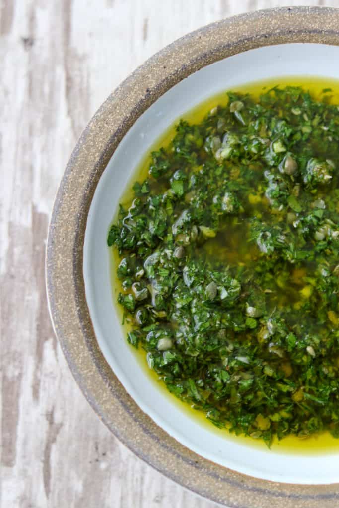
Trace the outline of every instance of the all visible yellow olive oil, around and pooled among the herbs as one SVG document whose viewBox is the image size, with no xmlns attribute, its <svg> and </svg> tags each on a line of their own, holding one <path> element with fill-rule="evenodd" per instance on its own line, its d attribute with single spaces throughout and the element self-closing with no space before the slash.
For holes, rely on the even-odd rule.
<svg viewBox="0 0 339 508">
<path fill-rule="evenodd" d="M 314 78 L 314 77 L 288 77 L 288 78 L 276 78 L 274 80 L 262 81 L 256 83 L 250 83 L 246 86 L 236 87 L 237 92 L 241 93 L 250 93 L 254 97 L 258 97 L 261 93 L 275 87 L 286 87 L 286 86 L 301 86 L 305 90 L 309 90 L 312 96 L 316 99 L 322 99 L 323 97 L 328 98 L 329 103 L 339 104 L 339 82 L 328 79 Z M 182 115 L 181 118 L 187 120 L 191 123 L 199 123 L 205 117 L 205 115 L 213 110 L 213 108 L 218 105 L 226 106 L 228 102 L 228 97 L 225 92 L 218 94 L 218 96 L 212 97 L 205 101 L 203 104 L 198 105 L 191 111 Z M 164 133 L 159 140 L 152 147 L 152 150 L 158 150 L 161 146 L 167 146 L 169 142 L 175 135 L 174 125 L 171 126 L 166 133 Z M 149 150 L 150 152 L 151 150 Z M 147 154 L 142 160 L 141 164 L 138 166 L 135 174 L 131 179 L 131 184 L 128 185 L 126 192 L 121 197 L 121 204 L 124 206 L 129 206 L 132 202 L 132 183 L 135 181 L 142 182 L 148 173 L 148 168 L 151 163 L 151 157 Z M 236 177 L 236 175 L 235 175 Z M 256 196 L 250 197 L 250 205 L 251 200 L 253 202 L 256 201 Z M 250 206 L 249 205 L 249 206 Z M 265 206 L 263 206 L 263 215 L 265 214 Z M 206 246 L 203 246 L 202 249 L 205 249 L 206 257 L 215 255 L 215 252 L 218 252 L 218 259 L 223 260 L 226 264 L 232 263 L 235 260 L 238 264 L 241 265 L 255 265 L 256 256 L 257 256 L 257 247 L 251 246 L 246 248 L 241 248 L 244 246 L 244 239 L 248 232 L 243 229 L 243 224 L 238 221 L 237 217 L 233 219 L 233 223 L 231 226 L 229 225 L 227 232 L 220 232 L 218 235 L 209 240 Z M 240 246 L 240 247 L 239 247 Z M 116 277 L 116 268 L 119 263 L 119 259 L 117 256 L 116 250 L 112 253 L 112 264 L 111 264 L 111 276 L 112 276 L 112 288 L 113 288 L 113 300 L 116 302 L 116 298 L 118 293 L 121 291 L 121 283 L 120 280 Z M 310 271 L 310 276 L 312 274 L 312 270 L 314 267 L 310 264 L 306 270 Z M 285 302 L 289 299 L 295 301 L 296 310 L 298 299 L 300 298 L 300 292 L 304 291 L 312 291 L 305 290 L 304 286 L 300 283 L 302 277 L 304 277 L 305 273 L 298 272 L 298 269 L 294 270 L 292 274 L 292 282 L 286 284 L 283 280 L 276 280 L 274 284 L 276 287 L 280 288 L 279 298 L 276 300 L 269 295 L 269 300 L 273 306 L 275 305 L 284 305 Z M 308 275 L 308 272 L 307 272 Z M 272 290 L 273 291 L 273 290 Z M 273 291 L 274 292 L 274 291 Z M 121 322 L 122 319 L 122 311 L 121 308 L 118 307 L 118 310 L 121 314 Z M 129 318 L 125 317 L 124 319 L 124 335 L 127 335 L 129 329 L 131 329 L 131 323 L 129 322 Z M 157 386 L 157 389 L 161 390 L 164 397 L 168 398 L 169 403 L 176 404 L 181 411 L 192 417 L 196 422 L 200 425 L 206 426 L 209 431 L 215 432 L 218 435 L 227 435 L 230 439 L 238 440 L 239 442 L 245 443 L 246 445 L 256 448 L 265 448 L 265 443 L 261 440 L 254 439 L 252 437 L 244 437 L 243 435 L 236 436 L 234 433 L 228 432 L 226 429 L 220 429 L 215 427 L 205 416 L 202 411 L 194 409 L 190 404 L 182 402 L 177 397 L 172 395 L 167 389 L 163 382 L 158 379 L 158 376 L 154 370 L 149 369 L 146 361 L 145 352 L 139 347 L 139 350 L 136 351 L 138 356 L 140 365 L 145 370 L 146 375 L 152 378 L 153 383 Z M 281 441 L 274 437 L 273 442 L 271 443 L 271 450 L 273 452 L 279 453 L 300 453 L 300 454 L 323 454 L 323 453 L 331 453 L 334 451 L 339 451 L 339 440 L 333 438 L 328 432 L 323 432 L 319 434 L 312 434 L 309 437 L 300 438 L 294 435 L 288 435 Z"/>
</svg>

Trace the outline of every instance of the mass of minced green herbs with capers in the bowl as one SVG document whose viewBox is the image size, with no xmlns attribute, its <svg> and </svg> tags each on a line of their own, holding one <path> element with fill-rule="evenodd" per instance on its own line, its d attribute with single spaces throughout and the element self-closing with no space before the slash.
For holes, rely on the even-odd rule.
<svg viewBox="0 0 339 508">
<path fill-rule="evenodd" d="M 228 96 L 152 152 L 109 231 L 128 341 L 219 427 L 338 437 L 339 108 Z"/>
</svg>

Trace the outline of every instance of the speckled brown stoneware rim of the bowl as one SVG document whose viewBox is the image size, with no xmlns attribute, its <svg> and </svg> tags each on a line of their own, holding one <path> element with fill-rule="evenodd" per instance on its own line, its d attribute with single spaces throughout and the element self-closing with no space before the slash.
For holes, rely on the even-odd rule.
<svg viewBox="0 0 339 508">
<path fill-rule="evenodd" d="M 55 334 L 98 416 L 138 457 L 203 497 L 237 508 L 327 508 L 339 484 L 292 485 L 247 477 L 183 447 L 122 388 L 90 321 L 82 274 L 86 219 L 99 178 L 134 121 L 164 92 L 227 56 L 284 43 L 339 45 L 339 10 L 282 8 L 235 16 L 182 37 L 131 74 L 90 120 L 56 195 L 47 240 L 46 283 Z"/>
</svg>

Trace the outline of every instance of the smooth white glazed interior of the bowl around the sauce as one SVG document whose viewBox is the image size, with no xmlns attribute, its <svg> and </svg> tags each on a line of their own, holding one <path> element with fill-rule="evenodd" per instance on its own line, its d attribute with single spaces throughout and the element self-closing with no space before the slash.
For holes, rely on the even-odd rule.
<svg viewBox="0 0 339 508">
<path fill-rule="evenodd" d="M 212 425 L 201 425 L 164 397 L 121 329 L 112 299 L 107 232 L 119 198 L 142 157 L 180 115 L 214 94 L 256 80 L 306 75 L 339 78 L 338 62 L 339 47 L 285 44 L 246 51 L 192 74 L 134 123 L 107 165 L 88 214 L 83 259 L 86 299 L 99 346 L 122 385 L 141 409 L 184 446 L 215 463 L 266 480 L 339 482 L 339 454 L 286 454 L 249 447 L 242 440 L 215 432 Z"/>
</svg>

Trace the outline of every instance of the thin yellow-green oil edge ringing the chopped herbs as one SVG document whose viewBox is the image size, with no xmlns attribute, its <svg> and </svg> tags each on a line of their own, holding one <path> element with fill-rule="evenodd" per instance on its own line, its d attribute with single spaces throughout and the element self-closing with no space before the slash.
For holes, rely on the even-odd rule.
<svg viewBox="0 0 339 508">
<path fill-rule="evenodd" d="M 327 100 L 333 104 L 339 105 L 339 81 L 331 80 L 328 78 L 319 78 L 319 77 L 282 77 L 275 78 L 265 81 L 256 81 L 253 83 L 249 83 L 247 85 L 236 86 L 232 88 L 232 91 L 242 92 L 242 93 L 251 93 L 253 96 L 258 97 L 262 92 L 268 91 L 270 88 L 275 86 L 301 86 L 304 90 L 310 91 L 312 96 L 316 99 L 321 100 L 326 94 Z M 330 89 L 330 90 L 328 90 Z M 324 91 L 326 90 L 326 91 Z M 214 107 L 218 105 L 225 106 L 228 102 L 227 92 L 225 90 L 222 93 L 219 93 L 198 106 L 194 107 L 190 111 L 181 115 L 180 118 L 187 120 L 191 123 L 199 123 L 202 121 L 204 116 Z M 179 118 L 177 119 L 177 121 Z M 158 150 L 161 146 L 167 146 L 170 141 L 173 139 L 175 135 L 175 121 L 153 144 L 153 146 L 147 151 L 145 156 L 143 157 L 141 163 L 136 168 L 133 173 L 130 182 L 128 183 L 124 193 L 122 193 L 120 198 L 120 203 L 127 208 L 130 206 L 133 200 L 133 191 L 132 185 L 135 181 L 142 182 L 148 173 L 148 168 L 151 162 L 150 152 L 152 150 Z M 116 210 L 117 213 L 117 210 Z M 116 268 L 119 263 L 119 258 L 117 255 L 116 249 L 110 249 L 111 253 L 111 283 L 112 283 L 112 297 L 114 301 L 114 305 L 117 307 L 118 315 L 120 317 L 121 327 L 124 335 L 127 337 L 128 331 L 132 328 L 128 319 L 123 320 L 123 312 L 122 308 L 117 304 L 117 295 L 121 291 L 121 284 L 118 278 L 116 277 Z M 124 324 L 122 322 L 124 321 Z M 130 346 L 132 347 L 132 346 Z M 220 429 L 215 427 L 205 416 L 202 411 L 196 410 L 191 405 L 186 402 L 179 400 L 177 397 L 172 395 L 167 389 L 165 384 L 158 379 L 157 373 L 153 370 L 150 370 L 147 362 L 146 362 L 146 353 L 145 351 L 139 347 L 138 350 L 135 350 L 136 357 L 140 363 L 141 368 L 145 371 L 145 374 L 152 380 L 158 390 L 162 392 L 162 395 L 168 400 L 169 404 L 174 404 L 176 407 L 182 411 L 184 414 L 188 415 L 190 418 L 194 419 L 199 425 L 204 426 L 208 429 L 209 432 L 214 432 L 219 436 L 227 436 L 228 439 L 234 439 L 242 444 L 246 444 L 246 446 L 255 447 L 257 449 L 267 449 L 266 444 L 261 440 L 256 440 L 249 436 L 239 435 L 236 436 L 233 433 L 230 433 L 227 429 Z M 339 452 L 339 439 L 335 439 L 332 437 L 329 432 L 323 432 L 318 435 L 312 435 L 311 437 L 300 438 L 295 435 L 290 435 L 279 441 L 278 439 L 273 440 L 271 444 L 271 451 L 284 453 L 284 454 L 325 454 L 325 453 L 334 453 Z"/>
</svg>

